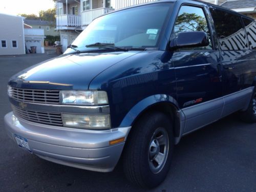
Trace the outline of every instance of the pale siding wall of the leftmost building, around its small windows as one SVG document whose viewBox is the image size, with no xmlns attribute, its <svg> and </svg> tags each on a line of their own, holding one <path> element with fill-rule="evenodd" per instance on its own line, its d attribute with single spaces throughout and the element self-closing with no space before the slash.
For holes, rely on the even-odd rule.
<svg viewBox="0 0 256 192">
<path fill-rule="evenodd" d="M 23 18 L 0 14 L 0 55 L 25 54 Z M 1 40 L 6 40 L 7 48 L 2 48 Z M 12 40 L 17 41 L 17 48 L 12 48 Z"/>
</svg>

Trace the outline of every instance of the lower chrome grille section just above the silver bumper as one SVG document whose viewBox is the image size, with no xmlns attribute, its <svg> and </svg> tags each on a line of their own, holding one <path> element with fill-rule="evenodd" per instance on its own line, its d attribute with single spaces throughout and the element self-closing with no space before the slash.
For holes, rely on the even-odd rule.
<svg viewBox="0 0 256 192">
<path fill-rule="evenodd" d="M 27 121 L 32 121 L 36 123 L 58 125 L 62 126 L 62 119 L 60 113 L 42 112 L 42 111 L 32 111 L 17 108 L 12 105 L 14 114 Z"/>
</svg>

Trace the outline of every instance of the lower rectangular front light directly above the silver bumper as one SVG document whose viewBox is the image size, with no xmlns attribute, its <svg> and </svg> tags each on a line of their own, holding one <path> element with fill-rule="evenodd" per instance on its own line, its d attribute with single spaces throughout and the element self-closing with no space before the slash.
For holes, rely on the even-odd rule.
<svg viewBox="0 0 256 192">
<path fill-rule="evenodd" d="M 109 129 L 110 115 L 61 114 L 64 126 L 82 129 Z"/>
</svg>

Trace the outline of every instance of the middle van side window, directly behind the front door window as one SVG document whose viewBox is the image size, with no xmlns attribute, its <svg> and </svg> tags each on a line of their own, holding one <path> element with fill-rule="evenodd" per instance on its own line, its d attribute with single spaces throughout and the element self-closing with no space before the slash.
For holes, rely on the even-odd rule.
<svg viewBox="0 0 256 192">
<path fill-rule="evenodd" d="M 210 9 L 221 50 L 248 50 L 248 42 L 239 15 Z"/>
</svg>

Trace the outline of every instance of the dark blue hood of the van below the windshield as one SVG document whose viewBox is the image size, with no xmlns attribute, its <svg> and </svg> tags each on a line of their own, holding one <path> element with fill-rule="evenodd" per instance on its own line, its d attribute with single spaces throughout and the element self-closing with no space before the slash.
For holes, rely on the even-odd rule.
<svg viewBox="0 0 256 192">
<path fill-rule="evenodd" d="M 24 89 L 87 90 L 99 73 L 139 52 L 61 55 L 19 72 L 9 84 Z"/>
</svg>

